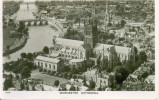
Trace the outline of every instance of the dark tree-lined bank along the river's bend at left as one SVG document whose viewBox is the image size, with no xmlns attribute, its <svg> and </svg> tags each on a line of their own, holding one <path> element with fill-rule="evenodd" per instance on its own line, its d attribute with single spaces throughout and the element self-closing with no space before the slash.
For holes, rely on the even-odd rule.
<svg viewBox="0 0 159 100">
<path fill-rule="evenodd" d="M 3 51 L 3 56 L 7 56 L 11 53 L 14 53 L 25 46 L 27 43 L 27 36 L 22 36 L 20 39 L 16 39 L 14 43 L 9 47 L 9 50 Z"/>
</svg>

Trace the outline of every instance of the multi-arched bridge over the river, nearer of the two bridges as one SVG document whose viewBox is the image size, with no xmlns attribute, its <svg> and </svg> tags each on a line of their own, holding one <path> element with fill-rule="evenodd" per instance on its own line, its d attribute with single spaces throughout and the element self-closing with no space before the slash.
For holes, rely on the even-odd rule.
<svg viewBox="0 0 159 100">
<path fill-rule="evenodd" d="M 40 25 L 48 25 L 48 21 L 46 19 L 25 19 L 25 20 L 17 20 L 18 23 L 23 22 L 26 26 L 40 26 Z"/>
</svg>

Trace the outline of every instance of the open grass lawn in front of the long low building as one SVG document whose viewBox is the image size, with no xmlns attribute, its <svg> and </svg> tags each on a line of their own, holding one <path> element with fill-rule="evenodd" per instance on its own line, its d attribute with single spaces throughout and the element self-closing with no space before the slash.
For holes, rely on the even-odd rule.
<svg viewBox="0 0 159 100">
<path fill-rule="evenodd" d="M 67 83 L 69 81 L 69 80 L 64 79 L 64 78 L 43 74 L 42 72 L 39 72 L 39 70 L 32 71 L 30 78 L 41 79 L 41 80 L 43 80 L 44 84 L 50 85 L 50 86 L 53 86 L 54 81 L 56 81 L 56 80 L 59 80 L 60 84 Z"/>
</svg>

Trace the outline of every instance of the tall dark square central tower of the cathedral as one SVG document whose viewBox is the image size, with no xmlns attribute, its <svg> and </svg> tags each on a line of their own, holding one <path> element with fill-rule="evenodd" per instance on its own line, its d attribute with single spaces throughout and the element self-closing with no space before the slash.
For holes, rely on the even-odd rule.
<svg viewBox="0 0 159 100">
<path fill-rule="evenodd" d="M 89 22 L 84 27 L 84 35 L 84 44 L 89 44 L 93 49 L 97 43 L 97 21 L 95 19 L 89 18 Z"/>
</svg>

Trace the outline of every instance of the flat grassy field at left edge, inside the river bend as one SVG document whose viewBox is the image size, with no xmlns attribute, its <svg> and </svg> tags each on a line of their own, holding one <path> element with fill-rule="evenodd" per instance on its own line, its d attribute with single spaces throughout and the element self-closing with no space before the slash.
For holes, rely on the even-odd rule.
<svg viewBox="0 0 159 100">
<path fill-rule="evenodd" d="M 11 45 L 16 38 L 10 38 L 10 31 L 14 30 L 13 26 L 3 28 L 3 50 L 6 50 L 7 45 Z"/>
</svg>

